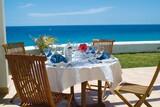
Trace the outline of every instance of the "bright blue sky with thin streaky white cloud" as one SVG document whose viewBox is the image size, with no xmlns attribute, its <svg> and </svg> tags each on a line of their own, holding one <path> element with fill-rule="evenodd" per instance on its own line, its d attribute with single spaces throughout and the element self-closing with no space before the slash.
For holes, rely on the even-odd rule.
<svg viewBox="0 0 160 107">
<path fill-rule="evenodd" d="M 160 0 L 4 0 L 7 26 L 160 24 Z"/>
</svg>

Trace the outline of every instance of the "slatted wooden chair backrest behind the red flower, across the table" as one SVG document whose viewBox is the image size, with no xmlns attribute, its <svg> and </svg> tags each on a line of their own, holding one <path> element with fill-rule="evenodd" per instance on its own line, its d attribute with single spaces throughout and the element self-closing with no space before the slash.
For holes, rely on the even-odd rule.
<svg viewBox="0 0 160 107">
<path fill-rule="evenodd" d="M 114 40 L 103 40 L 95 39 L 93 40 L 93 46 L 96 47 L 99 51 L 107 51 L 109 54 L 112 54 Z"/>
</svg>

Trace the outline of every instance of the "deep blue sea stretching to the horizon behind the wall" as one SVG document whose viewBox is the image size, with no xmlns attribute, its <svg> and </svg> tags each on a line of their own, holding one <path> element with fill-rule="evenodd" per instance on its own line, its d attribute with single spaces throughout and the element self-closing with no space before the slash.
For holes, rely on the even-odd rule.
<svg viewBox="0 0 160 107">
<path fill-rule="evenodd" d="M 160 40 L 160 25 L 73 25 L 7 27 L 7 42 L 22 41 L 26 46 L 35 45 L 31 39 L 39 35 L 56 37 L 57 44 L 67 42 L 90 43 L 92 39 L 115 41 Z"/>
</svg>

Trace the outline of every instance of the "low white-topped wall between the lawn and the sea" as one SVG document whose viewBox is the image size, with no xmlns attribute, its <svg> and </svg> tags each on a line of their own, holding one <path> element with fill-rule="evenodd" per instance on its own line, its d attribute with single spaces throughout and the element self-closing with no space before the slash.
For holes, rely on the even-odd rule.
<svg viewBox="0 0 160 107">
<path fill-rule="evenodd" d="M 65 44 L 56 45 L 57 50 L 62 50 Z M 28 53 L 38 54 L 34 46 L 25 47 Z M 113 53 L 136 53 L 136 52 L 160 52 L 160 41 L 132 41 L 115 42 Z"/>
</svg>

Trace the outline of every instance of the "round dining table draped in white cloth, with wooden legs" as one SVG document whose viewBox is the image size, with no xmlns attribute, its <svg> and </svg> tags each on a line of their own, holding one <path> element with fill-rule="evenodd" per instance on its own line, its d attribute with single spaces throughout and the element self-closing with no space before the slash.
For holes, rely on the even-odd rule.
<svg viewBox="0 0 160 107">
<path fill-rule="evenodd" d="M 51 64 L 46 62 L 46 69 L 51 91 L 63 92 L 65 89 L 81 83 L 81 107 L 86 107 L 87 81 L 98 80 L 98 103 L 102 103 L 102 81 L 110 83 L 110 91 L 122 81 L 119 60 L 111 56 L 104 60 L 88 58 L 76 59 L 69 63 Z"/>
</svg>

